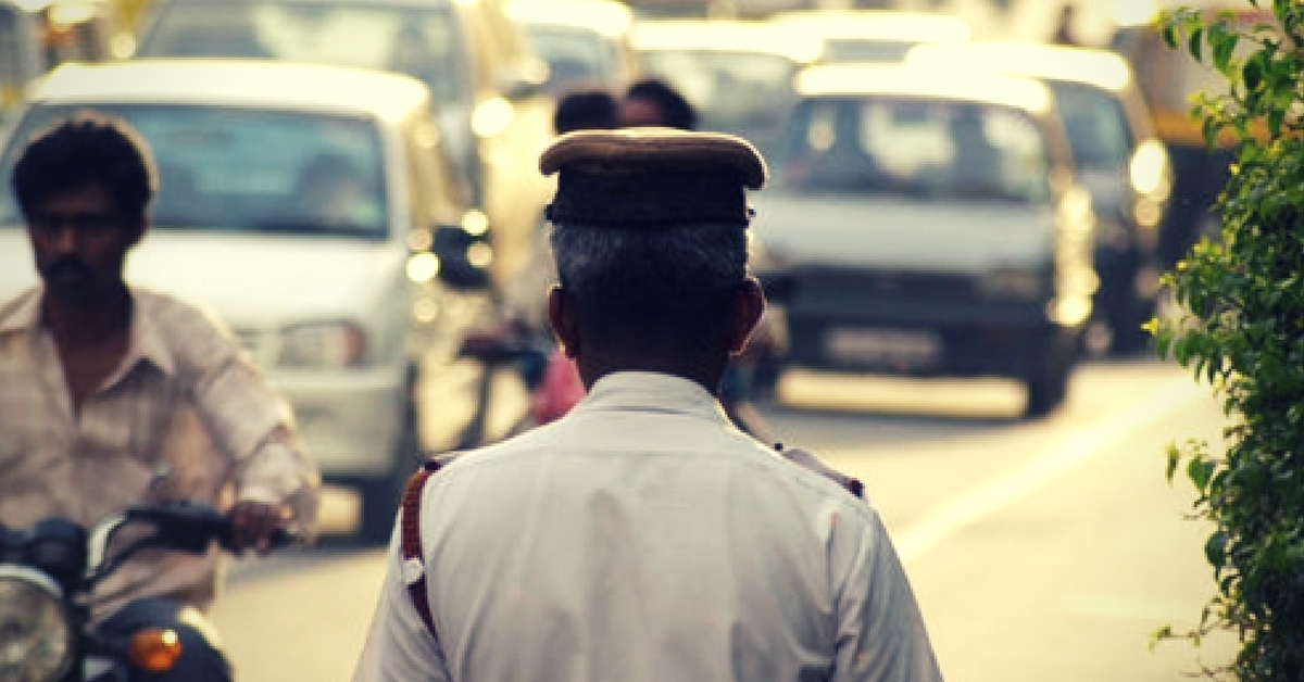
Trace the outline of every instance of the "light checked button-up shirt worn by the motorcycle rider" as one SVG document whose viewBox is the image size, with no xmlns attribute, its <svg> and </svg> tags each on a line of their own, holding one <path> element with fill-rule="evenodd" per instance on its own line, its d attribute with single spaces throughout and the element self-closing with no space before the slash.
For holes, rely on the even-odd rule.
<svg viewBox="0 0 1304 682">
<path fill-rule="evenodd" d="M 74 413 L 40 296 L 38 287 L 0 305 L 0 523 L 59 515 L 90 526 L 143 502 L 253 499 L 287 503 L 312 528 L 317 471 L 288 407 L 220 323 L 132 289 L 126 356 Z M 215 550 L 141 554 L 99 587 L 95 615 L 154 595 L 206 608 L 219 561 Z"/>
</svg>

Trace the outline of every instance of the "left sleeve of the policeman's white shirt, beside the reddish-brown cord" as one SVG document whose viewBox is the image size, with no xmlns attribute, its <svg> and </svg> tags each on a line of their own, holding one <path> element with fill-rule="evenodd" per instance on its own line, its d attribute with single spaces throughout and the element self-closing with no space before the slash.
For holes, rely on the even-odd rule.
<svg viewBox="0 0 1304 682">
<path fill-rule="evenodd" d="M 385 582 L 353 682 L 450 682 L 439 643 L 426 629 L 407 583 L 398 532 L 390 541 Z"/>
</svg>

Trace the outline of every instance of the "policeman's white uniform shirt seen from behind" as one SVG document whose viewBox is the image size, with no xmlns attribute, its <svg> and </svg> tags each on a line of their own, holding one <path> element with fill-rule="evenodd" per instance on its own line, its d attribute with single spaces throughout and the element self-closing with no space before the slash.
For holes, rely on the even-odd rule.
<svg viewBox="0 0 1304 682">
<path fill-rule="evenodd" d="M 941 679 L 874 509 L 675 377 L 439 471 L 421 542 L 438 640 L 395 541 L 355 682 Z"/>
</svg>

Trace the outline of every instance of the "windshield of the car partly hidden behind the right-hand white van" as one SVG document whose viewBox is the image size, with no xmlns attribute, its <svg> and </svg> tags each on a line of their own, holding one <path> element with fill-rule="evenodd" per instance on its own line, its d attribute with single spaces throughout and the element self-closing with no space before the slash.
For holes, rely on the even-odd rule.
<svg viewBox="0 0 1304 682">
<path fill-rule="evenodd" d="M 1125 171 L 1134 141 L 1118 98 L 1084 83 L 1048 85 L 1077 166 L 1091 171 Z"/>
</svg>

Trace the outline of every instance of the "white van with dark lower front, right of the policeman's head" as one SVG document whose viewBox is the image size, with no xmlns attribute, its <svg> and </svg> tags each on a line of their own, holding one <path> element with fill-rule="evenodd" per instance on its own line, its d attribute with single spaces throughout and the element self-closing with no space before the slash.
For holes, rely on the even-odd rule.
<svg viewBox="0 0 1304 682">
<path fill-rule="evenodd" d="M 996 376 L 1065 395 L 1091 314 L 1094 215 L 1050 90 L 902 65 L 814 67 L 754 197 L 786 271 L 786 363 Z"/>
</svg>

